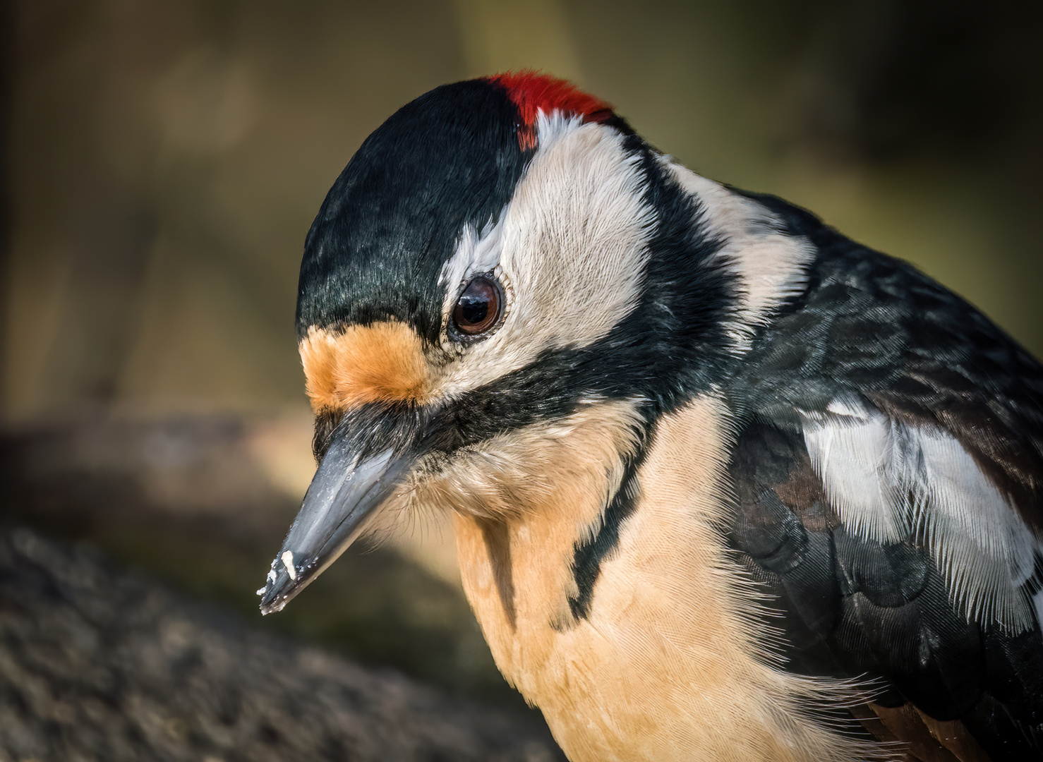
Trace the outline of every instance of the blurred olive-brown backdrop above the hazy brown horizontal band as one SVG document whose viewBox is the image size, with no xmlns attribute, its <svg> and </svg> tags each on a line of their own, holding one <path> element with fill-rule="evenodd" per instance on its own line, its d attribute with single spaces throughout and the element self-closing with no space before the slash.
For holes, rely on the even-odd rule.
<svg viewBox="0 0 1043 762">
<path fill-rule="evenodd" d="M 1043 349 L 1038 2 L 13 14 L 10 419 L 299 408 L 298 255 L 333 179 L 406 101 L 511 67 L 574 79 L 696 171 L 912 260 Z"/>
</svg>

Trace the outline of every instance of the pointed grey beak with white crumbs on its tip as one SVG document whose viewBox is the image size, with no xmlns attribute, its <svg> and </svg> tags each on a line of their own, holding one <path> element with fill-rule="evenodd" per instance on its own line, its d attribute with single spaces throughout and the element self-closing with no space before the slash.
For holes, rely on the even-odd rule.
<svg viewBox="0 0 1043 762">
<path fill-rule="evenodd" d="M 414 462 L 391 449 L 360 459 L 349 439 L 334 436 L 283 547 L 258 590 L 261 613 L 281 611 L 366 530 L 377 509 Z"/>
</svg>

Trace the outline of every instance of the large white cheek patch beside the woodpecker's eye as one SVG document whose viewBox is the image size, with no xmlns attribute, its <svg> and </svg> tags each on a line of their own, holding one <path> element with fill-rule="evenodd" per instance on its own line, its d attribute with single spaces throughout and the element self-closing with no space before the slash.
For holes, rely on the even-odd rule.
<svg viewBox="0 0 1043 762">
<path fill-rule="evenodd" d="M 489 384 L 541 351 L 582 347 L 637 304 L 654 212 L 638 156 L 614 129 L 540 116 L 539 148 L 500 221 L 465 231 L 442 270 L 443 316 L 464 280 L 494 270 L 508 286 L 503 324 L 446 365 L 445 396 Z"/>
</svg>

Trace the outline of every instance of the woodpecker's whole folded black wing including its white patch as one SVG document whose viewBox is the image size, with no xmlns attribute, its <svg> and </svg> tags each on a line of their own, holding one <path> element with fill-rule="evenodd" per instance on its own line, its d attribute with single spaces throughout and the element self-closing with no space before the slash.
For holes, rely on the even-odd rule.
<svg viewBox="0 0 1043 762">
<path fill-rule="evenodd" d="M 1039 759 L 1043 369 L 907 265 L 816 243 L 735 386 L 730 541 L 789 668 L 877 681 L 878 736 Z"/>
</svg>

